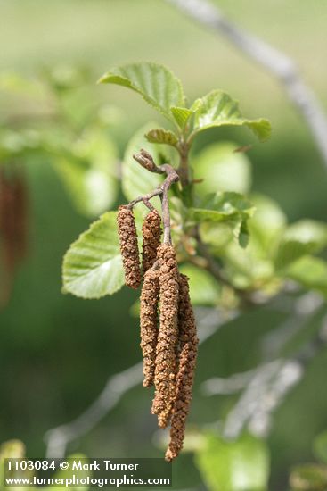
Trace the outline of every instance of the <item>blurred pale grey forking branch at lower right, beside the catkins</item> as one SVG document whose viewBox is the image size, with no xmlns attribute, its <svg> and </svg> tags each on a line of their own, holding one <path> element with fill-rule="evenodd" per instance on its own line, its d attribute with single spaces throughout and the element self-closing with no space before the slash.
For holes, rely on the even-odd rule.
<svg viewBox="0 0 327 491">
<path fill-rule="evenodd" d="M 275 303 L 273 301 L 273 304 Z M 280 299 L 282 301 L 282 298 Z M 264 363 L 258 367 L 233 374 L 227 378 L 208 379 L 202 383 L 204 395 L 230 395 L 242 390 L 241 396 L 229 412 L 224 425 L 226 438 L 236 438 L 242 429 L 266 437 L 272 424 L 274 411 L 303 377 L 307 364 L 327 345 L 327 315 L 321 320 L 320 329 L 315 336 L 302 347 L 298 354 L 289 359 L 282 358 L 282 350 L 290 338 L 303 329 L 324 309 L 321 295 L 309 292 L 299 296 L 290 305 L 286 299 L 286 308 L 291 309 L 290 317 L 282 322 L 279 329 L 268 334 L 262 343 Z M 279 310 L 283 304 L 278 302 Z M 268 348 L 268 345 L 272 345 Z"/>
</svg>

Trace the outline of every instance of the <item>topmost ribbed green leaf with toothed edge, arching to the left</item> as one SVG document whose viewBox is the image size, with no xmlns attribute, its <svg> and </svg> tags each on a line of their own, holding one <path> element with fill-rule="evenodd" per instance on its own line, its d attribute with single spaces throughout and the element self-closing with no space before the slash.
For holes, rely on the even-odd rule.
<svg viewBox="0 0 327 491">
<path fill-rule="evenodd" d="M 179 79 L 166 67 L 152 62 L 131 63 L 115 67 L 99 80 L 102 84 L 117 84 L 135 90 L 143 99 L 175 122 L 171 106 L 184 106 L 184 92 Z"/>
</svg>

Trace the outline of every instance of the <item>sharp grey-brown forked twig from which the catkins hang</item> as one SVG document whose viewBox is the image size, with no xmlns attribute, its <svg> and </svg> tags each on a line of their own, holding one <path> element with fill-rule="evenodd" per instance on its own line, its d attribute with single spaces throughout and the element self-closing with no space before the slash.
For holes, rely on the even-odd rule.
<svg viewBox="0 0 327 491">
<path fill-rule="evenodd" d="M 159 167 L 154 163 L 151 154 L 146 152 L 146 150 L 141 150 L 139 154 L 133 155 L 133 158 L 136 162 L 144 167 L 147 171 L 155 172 L 157 174 L 166 174 L 167 178 L 164 182 L 144 196 L 139 196 L 131 201 L 127 207 L 133 208 L 135 204 L 140 203 L 141 201 L 145 204 L 150 210 L 153 210 L 153 206 L 150 203 L 150 200 L 154 196 L 160 196 L 161 200 L 161 208 L 162 208 L 162 223 L 163 223 L 163 242 L 165 244 L 171 243 L 171 233 L 170 233 L 170 212 L 169 212 L 169 201 L 168 201 L 168 191 L 174 182 L 179 180 L 179 176 L 175 169 L 169 165 L 168 163 L 164 163 Z"/>
</svg>

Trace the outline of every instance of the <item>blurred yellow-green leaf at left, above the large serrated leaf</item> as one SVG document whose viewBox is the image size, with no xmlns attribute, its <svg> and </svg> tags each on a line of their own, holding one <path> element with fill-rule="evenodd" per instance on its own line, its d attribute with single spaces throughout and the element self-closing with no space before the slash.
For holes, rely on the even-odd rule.
<svg viewBox="0 0 327 491">
<path fill-rule="evenodd" d="M 116 201 L 118 179 L 117 149 L 100 130 L 88 131 L 72 146 L 71 154 L 53 159 L 53 167 L 63 181 L 78 212 L 94 217 Z"/>
</svg>

